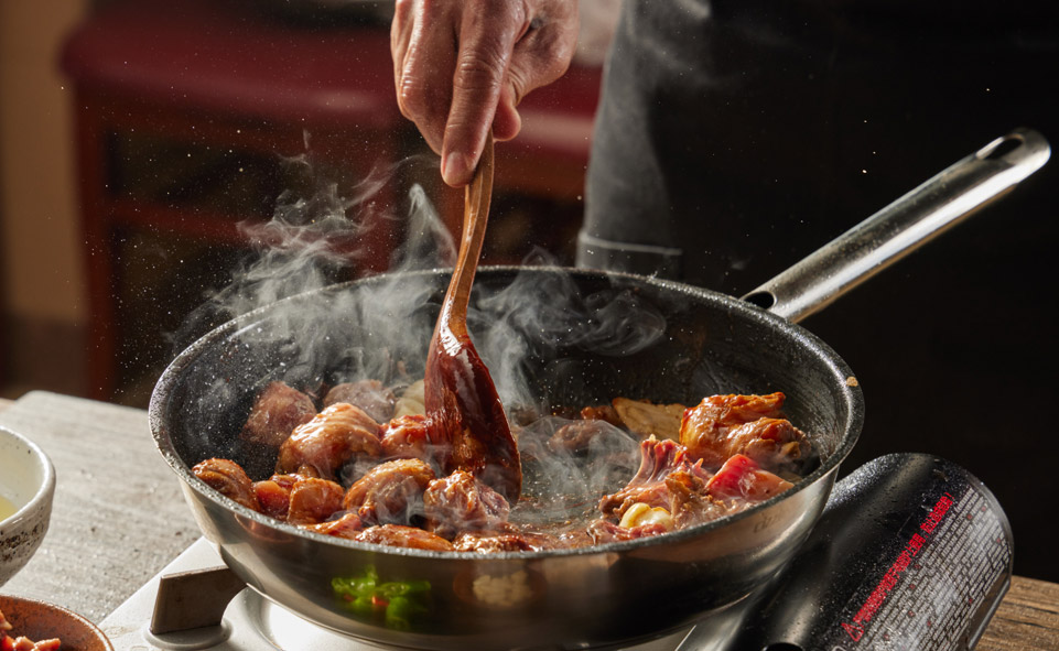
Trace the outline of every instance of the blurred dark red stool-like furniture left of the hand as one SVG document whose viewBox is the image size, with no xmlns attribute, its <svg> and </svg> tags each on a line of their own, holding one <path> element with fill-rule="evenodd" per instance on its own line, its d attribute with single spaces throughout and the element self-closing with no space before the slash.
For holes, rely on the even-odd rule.
<svg viewBox="0 0 1059 651">
<path fill-rule="evenodd" d="M 94 398 L 117 389 L 117 238 L 147 229 L 238 246 L 240 216 L 149 202 L 115 188 L 119 134 L 153 134 L 213 151 L 314 160 L 353 175 L 398 160 L 401 117 L 389 33 L 376 23 L 305 25 L 241 0 L 137 0 L 104 6 L 67 40 L 62 69 L 76 95 L 77 164 L 91 310 Z M 390 203 L 392 188 L 376 200 Z M 392 224 L 375 219 L 365 271 L 381 270 Z"/>
</svg>

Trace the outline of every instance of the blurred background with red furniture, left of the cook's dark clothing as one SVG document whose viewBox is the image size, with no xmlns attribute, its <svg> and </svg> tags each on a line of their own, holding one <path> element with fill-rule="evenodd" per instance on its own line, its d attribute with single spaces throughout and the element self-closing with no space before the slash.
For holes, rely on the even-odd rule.
<svg viewBox="0 0 1059 651">
<path fill-rule="evenodd" d="M 534 246 L 573 260 L 617 10 L 585 4 L 574 69 L 527 102 L 522 137 L 498 154 L 488 261 L 518 262 Z M 292 188 L 310 196 L 333 182 L 349 196 L 369 176 L 381 183 L 365 236 L 376 259 L 346 275 L 385 268 L 413 183 L 458 228 L 463 197 L 437 187 L 436 159 L 400 163 L 429 150 L 397 109 L 391 11 L 356 0 L 2 3 L 2 395 L 144 406 L 174 347 L 210 325 L 188 327 L 188 314 L 230 281 L 247 228 Z"/>
</svg>

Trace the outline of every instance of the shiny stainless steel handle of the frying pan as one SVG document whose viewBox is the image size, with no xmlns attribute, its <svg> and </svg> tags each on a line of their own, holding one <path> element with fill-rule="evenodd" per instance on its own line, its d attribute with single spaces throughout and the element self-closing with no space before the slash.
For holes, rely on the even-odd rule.
<svg viewBox="0 0 1059 651">
<path fill-rule="evenodd" d="M 955 226 L 1039 170 L 1045 138 L 1016 129 L 842 234 L 744 301 L 798 322 Z"/>
</svg>

